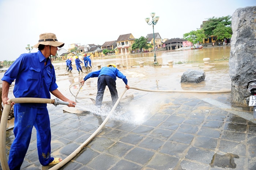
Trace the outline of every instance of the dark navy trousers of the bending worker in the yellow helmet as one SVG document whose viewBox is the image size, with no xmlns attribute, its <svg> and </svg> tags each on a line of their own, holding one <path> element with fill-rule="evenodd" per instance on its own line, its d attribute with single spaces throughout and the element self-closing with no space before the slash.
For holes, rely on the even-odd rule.
<svg viewBox="0 0 256 170">
<path fill-rule="evenodd" d="M 97 83 L 98 92 L 96 96 L 96 106 L 98 107 L 101 107 L 102 105 L 103 94 L 106 86 L 108 86 L 109 88 L 113 105 L 116 103 L 118 99 L 116 81 L 114 80 L 114 78 L 107 75 L 101 75 L 98 77 L 98 83 Z"/>
</svg>

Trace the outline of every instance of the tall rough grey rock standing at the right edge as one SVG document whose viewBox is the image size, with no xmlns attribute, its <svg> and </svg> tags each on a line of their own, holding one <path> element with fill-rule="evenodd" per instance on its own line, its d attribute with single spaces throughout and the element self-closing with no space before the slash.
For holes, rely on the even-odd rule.
<svg viewBox="0 0 256 170">
<path fill-rule="evenodd" d="M 256 6 L 236 9 L 231 27 L 230 101 L 245 105 L 249 96 L 247 82 L 256 79 Z"/>
</svg>

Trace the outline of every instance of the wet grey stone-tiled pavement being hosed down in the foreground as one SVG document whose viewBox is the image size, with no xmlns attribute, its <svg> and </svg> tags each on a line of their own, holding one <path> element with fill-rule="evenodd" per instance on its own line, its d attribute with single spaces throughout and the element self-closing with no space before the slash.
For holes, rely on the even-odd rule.
<svg viewBox="0 0 256 170">
<path fill-rule="evenodd" d="M 138 70 L 133 72 L 138 73 Z M 124 73 L 128 74 L 128 70 Z M 130 80 L 130 86 L 140 88 L 142 82 L 133 83 L 132 77 Z M 174 81 L 178 80 L 174 78 Z M 95 89 L 93 84 L 96 82 L 97 79 L 92 80 L 90 88 Z M 161 86 L 161 81 L 158 85 Z M 119 87 L 118 93 L 121 93 L 124 85 Z M 147 84 L 146 88 L 152 87 Z M 161 88 L 166 90 L 167 87 Z M 134 89 L 127 90 L 127 93 L 133 94 L 134 99 L 122 104 L 99 134 L 60 169 L 256 169 L 255 121 L 239 115 L 252 113 L 232 107 L 227 101 L 229 93 L 152 94 Z M 53 157 L 64 159 L 76 150 L 99 127 L 111 109 L 97 111 L 89 100 L 77 104 L 89 112 L 70 113 L 63 111 L 61 105 L 48 105 Z M 8 155 L 14 139 L 12 131 L 7 131 L 7 138 Z M 50 166 L 42 167 L 38 161 L 35 129 L 22 169 L 50 169 Z"/>
</svg>

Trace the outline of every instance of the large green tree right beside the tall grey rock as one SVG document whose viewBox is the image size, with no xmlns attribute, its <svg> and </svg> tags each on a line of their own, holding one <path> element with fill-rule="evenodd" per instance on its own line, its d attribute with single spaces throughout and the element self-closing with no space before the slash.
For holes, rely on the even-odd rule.
<svg viewBox="0 0 256 170">
<path fill-rule="evenodd" d="M 218 40 L 223 38 L 231 38 L 231 16 L 223 16 L 219 18 L 207 18 L 207 21 L 202 24 L 204 34 L 208 37 L 214 35 Z"/>
</svg>

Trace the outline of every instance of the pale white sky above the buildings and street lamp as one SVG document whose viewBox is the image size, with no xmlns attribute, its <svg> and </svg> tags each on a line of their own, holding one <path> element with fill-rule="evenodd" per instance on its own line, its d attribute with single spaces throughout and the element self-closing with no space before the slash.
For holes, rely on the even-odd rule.
<svg viewBox="0 0 256 170">
<path fill-rule="evenodd" d="M 45 32 L 56 34 L 66 50 L 72 43 L 102 45 L 123 34 L 152 34 L 144 19 L 155 12 L 160 17 L 155 33 L 182 38 L 207 18 L 248 6 L 256 6 L 256 0 L 0 0 L 0 61 L 28 53 L 27 44 L 34 46 Z"/>
</svg>

